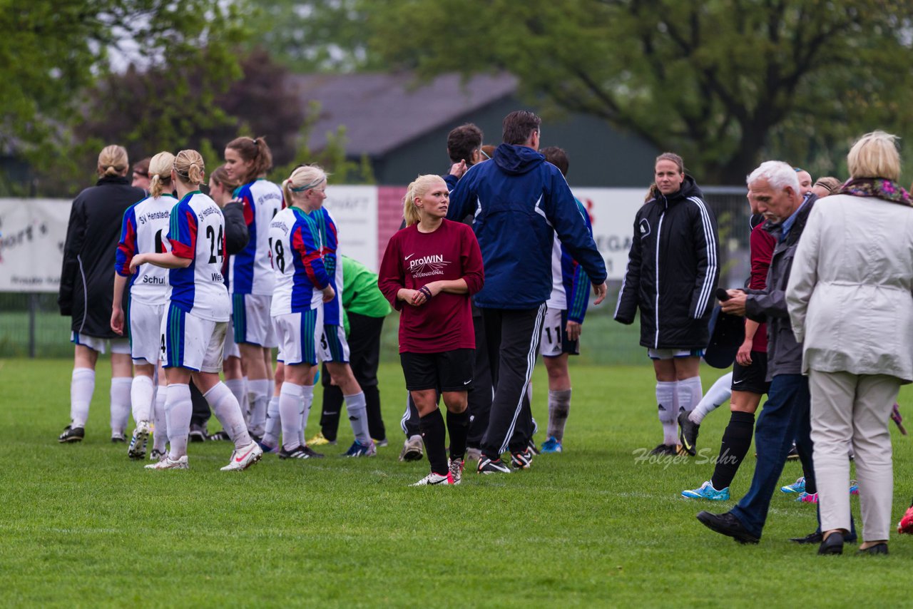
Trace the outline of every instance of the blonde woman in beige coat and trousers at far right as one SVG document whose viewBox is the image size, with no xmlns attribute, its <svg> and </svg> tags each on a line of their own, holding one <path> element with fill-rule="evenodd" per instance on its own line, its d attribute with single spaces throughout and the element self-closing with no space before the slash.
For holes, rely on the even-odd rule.
<svg viewBox="0 0 913 609">
<path fill-rule="evenodd" d="M 852 178 L 814 206 L 786 289 L 812 393 L 823 554 L 841 553 L 850 527 L 850 441 L 864 525 L 860 551 L 887 554 L 887 422 L 900 385 L 913 382 L 913 203 L 897 185 L 895 139 L 875 131 L 855 143 L 847 157 Z"/>
</svg>

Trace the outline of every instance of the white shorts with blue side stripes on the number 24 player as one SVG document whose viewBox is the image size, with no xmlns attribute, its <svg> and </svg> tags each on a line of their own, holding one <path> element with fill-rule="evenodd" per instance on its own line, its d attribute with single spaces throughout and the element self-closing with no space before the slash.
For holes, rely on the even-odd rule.
<svg viewBox="0 0 913 609">
<path fill-rule="evenodd" d="M 227 330 L 227 321 L 204 320 L 168 305 L 162 319 L 163 366 L 202 373 L 222 372 Z"/>
</svg>

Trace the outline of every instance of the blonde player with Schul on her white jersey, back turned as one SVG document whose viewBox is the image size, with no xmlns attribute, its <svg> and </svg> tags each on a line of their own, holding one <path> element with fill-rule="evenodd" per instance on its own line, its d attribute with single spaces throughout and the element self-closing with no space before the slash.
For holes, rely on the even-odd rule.
<svg viewBox="0 0 913 609">
<path fill-rule="evenodd" d="M 123 335 L 124 326 L 130 336 L 130 352 L 133 358 L 133 383 L 130 401 L 133 407 L 133 421 L 136 428 L 127 455 L 131 459 L 146 456 L 146 442 L 156 423 L 155 442 L 152 458 L 164 455 L 165 436 L 165 379 L 158 377 L 156 391 L 153 377 L 159 365 L 161 352 L 162 318 L 168 304 L 168 269 L 144 264 L 136 274 L 130 269 L 134 256 L 146 252 L 161 254 L 164 236 L 168 234 L 168 219 L 177 201 L 172 194 L 171 172 L 174 155 L 159 152 L 148 164 L 151 176 L 149 196 L 131 206 L 123 215 L 121 240 L 117 247 L 114 264 L 114 301 L 111 306 L 111 330 Z M 122 294 L 130 281 L 130 300 L 124 316 Z M 154 409 L 153 409 L 154 402 Z M 154 413 L 154 414 L 153 414 Z"/>
</svg>

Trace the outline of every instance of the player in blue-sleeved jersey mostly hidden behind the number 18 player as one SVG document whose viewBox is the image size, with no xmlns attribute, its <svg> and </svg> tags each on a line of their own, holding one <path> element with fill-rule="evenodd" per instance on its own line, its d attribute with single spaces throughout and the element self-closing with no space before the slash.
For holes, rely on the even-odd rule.
<svg viewBox="0 0 913 609">
<path fill-rule="evenodd" d="M 329 210 L 323 207 L 323 200 L 327 198 L 326 191 L 327 181 L 324 177 L 322 182 L 308 189 L 311 194 L 304 202 L 305 209 L 317 225 L 323 266 L 330 276 L 330 285 L 335 292 L 333 299 L 323 303 L 320 361 L 326 362 L 327 372 L 342 390 L 349 423 L 355 435 L 355 441 L 346 451 L 346 457 L 373 457 L 377 454 L 377 448 L 368 431 L 364 392 L 355 380 L 352 367 L 349 365 L 349 343 L 346 341 L 345 329 L 342 326 L 342 264 L 337 264 L 336 259 L 340 255 L 336 223 L 333 222 Z"/>
</svg>

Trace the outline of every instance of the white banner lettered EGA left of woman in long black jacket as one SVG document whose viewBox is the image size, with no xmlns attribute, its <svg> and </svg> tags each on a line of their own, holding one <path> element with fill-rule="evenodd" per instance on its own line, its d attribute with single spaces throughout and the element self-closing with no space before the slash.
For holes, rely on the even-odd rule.
<svg viewBox="0 0 913 609">
<path fill-rule="evenodd" d="M 634 217 L 644 205 L 646 188 L 573 188 L 593 220 L 593 239 L 605 259 L 609 280 L 624 278 L 634 236 Z"/>
</svg>

